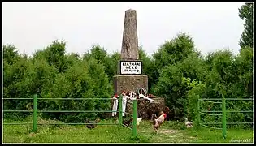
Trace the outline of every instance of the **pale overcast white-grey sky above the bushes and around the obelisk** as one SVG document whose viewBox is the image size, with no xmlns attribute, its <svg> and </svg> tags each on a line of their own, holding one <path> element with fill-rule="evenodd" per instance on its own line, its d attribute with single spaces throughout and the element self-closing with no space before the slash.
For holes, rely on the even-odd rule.
<svg viewBox="0 0 256 146">
<path fill-rule="evenodd" d="M 202 54 L 229 48 L 239 52 L 242 2 L 2 2 L 2 42 L 32 55 L 52 41 L 67 42 L 67 53 L 93 45 L 121 51 L 124 14 L 137 11 L 139 45 L 154 54 L 179 32 L 193 37 Z"/>
</svg>

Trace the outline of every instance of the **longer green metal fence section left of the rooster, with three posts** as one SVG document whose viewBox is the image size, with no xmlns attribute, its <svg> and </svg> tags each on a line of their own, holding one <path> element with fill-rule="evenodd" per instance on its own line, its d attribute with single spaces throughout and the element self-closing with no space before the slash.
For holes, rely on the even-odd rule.
<svg viewBox="0 0 256 146">
<path fill-rule="evenodd" d="M 119 127 L 126 127 L 123 122 L 123 107 L 122 101 L 123 96 L 119 96 L 119 111 L 115 110 L 37 110 L 37 100 L 114 100 L 113 98 L 37 98 L 37 95 L 33 95 L 33 98 L 3 98 L 3 100 L 33 100 L 33 110 L 3 110 L 3 112 L 33 112 L 33 122 L 24 122 L 24 123 L 3 123 L 4 125 L 24 125 L 24 124 L 33 124 L 33 131 L 37 132 L 37 125 L 89 125 L 91 123 L 37 123 L 37 113 L 95 113 L 95 112 L 118 112 L 119 113 L 119 122 L 115 123 L 95 123 L 96 125 L 119 125 Z M 128 127 L 132 130 L 132 136 L 137 136 L 137 100 L 127 101 L 128 103 L 132 103 L 133 105 L 133 122 L 132 128 Z M 124 112 L 126 113 L 126 112 Z M 126 113 L 129 114 L 129 113 Z"/>
</svg>

